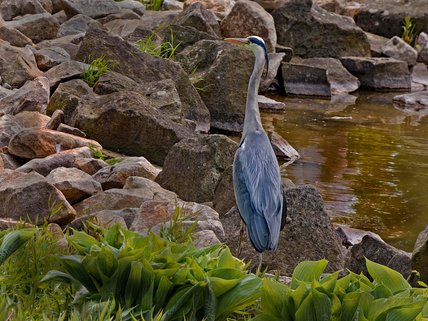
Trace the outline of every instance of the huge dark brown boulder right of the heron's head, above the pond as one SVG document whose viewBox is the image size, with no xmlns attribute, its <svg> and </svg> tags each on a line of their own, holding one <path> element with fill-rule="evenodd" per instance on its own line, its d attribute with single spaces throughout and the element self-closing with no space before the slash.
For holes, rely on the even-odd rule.
<svg viewBox="0 0 428 321">
<path fill-rule="evenodd" d="M 276 42 L 302 58 L 370 56 L 367 36 L 347 18 L 311 0 L 290 0 L 272 12 Z"/>
</svg>

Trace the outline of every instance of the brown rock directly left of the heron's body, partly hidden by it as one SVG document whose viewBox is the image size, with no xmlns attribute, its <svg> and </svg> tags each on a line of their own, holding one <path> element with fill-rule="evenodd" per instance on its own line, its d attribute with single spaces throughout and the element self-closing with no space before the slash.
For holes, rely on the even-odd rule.
<svg viewBox="0 0 428 321">
<path fill-rule="evenodd" d="M 214 188 L 213 208 L 220 218 L 236 205 L 235 191 L 233 190 L 233 166 L 227 167 L 218 178 Z"/>
</svg>

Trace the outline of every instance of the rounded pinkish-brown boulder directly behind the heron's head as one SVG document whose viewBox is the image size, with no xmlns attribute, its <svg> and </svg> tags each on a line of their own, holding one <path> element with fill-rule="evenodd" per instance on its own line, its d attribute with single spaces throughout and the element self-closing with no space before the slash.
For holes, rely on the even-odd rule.
<svg viewBox="0 0 428 321">
<path fill-rule="evenodd" d="M 265 40 L 268 52 L 275 52 L 276 30 L 272 16 L 254 1 L 238 0 L 220 23 L 226 38 L 259 36 Z"/>
</svg>

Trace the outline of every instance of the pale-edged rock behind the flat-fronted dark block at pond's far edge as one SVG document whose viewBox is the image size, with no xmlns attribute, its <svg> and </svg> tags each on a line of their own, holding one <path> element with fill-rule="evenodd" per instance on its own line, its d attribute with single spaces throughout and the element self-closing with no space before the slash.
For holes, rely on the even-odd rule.
<svg viewBox="0 0 428 321">
<path fill-rule="evenodd" d="M 347 94 L 358 89 L 358 78 L 347 71 L 338 59 L 334 58 L 292 58 L 291 63 L 324 68 L 327 72 L 327 81 L 330 83 L 331 94 Z M 284 77 L 285 78 L 285 77 Z"/>
</svg>

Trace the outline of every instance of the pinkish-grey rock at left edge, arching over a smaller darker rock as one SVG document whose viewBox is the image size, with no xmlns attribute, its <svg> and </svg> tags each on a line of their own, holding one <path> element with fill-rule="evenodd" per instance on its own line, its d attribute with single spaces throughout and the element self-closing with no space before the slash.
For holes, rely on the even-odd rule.
<svg viewBox="0 0 428 321">
<path fill-rule="evenodd" d="M 0 110 L 12 114 L 19 106 L 21 100 L 39 101 L 40 112 L 44 113 L 49 102 L 49 83 L 46 77 L 37 77 L 27 82 L 12 95 L 0 99 Z M 16 113 L 16 112 L 15 112 Z"/>
</svg>

